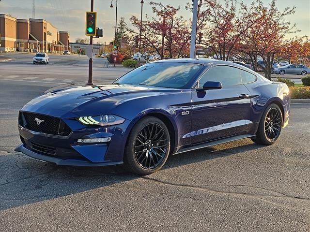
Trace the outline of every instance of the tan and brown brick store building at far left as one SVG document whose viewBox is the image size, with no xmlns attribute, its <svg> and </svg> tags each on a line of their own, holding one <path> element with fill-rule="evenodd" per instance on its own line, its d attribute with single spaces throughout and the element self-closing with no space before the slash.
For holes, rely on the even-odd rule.
<svg viewBox="0 0 310 232">
<path fill-rule="evenodd" d="M 62 53 L 70 50 L 68 31 L 58 31 L 44 19 L 16 19 L 0 14 L 0 51 Z"/>
</svg>

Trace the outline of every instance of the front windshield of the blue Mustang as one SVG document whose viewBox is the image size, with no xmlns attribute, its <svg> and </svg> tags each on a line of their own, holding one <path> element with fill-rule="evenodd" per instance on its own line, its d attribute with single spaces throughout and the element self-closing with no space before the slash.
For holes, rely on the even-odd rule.
<svg viewBox="0 0 310 232">
<path fill-rule="evenodd" d="M 126 73 L 113 84 L 184 88 L 202 67 L 181 62 L 150 63 Z"/>
</svg>

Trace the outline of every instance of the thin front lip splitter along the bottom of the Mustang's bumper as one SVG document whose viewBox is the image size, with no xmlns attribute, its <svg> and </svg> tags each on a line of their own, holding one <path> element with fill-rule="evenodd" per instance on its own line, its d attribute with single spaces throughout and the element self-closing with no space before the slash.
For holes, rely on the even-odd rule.
<svg viewBox="0 0 310 232">
<path fill-rule="evenodd" d="M 19 151 L 21 153 L 24 153 L 25 155 L 36 159 L 36 160 L 41 160 L 41 161 L 47 161 L 51 163 L 55 163 L 57 165 L 65 165 L 65 166 L 84 166 L 84 167 L 99 167 L 99 166 L 109 166 L 109 165 L 119 165 L 123 164 L 123 161 L 120 162 L 111 162 L 111 161 L 106 161 L 106 162 L 89 162 L 89 161 L 84 161 L 84 160 L 73 160 L 73 159 L 66 159 L 62 160 L 56 157 L 51 157 L 47 155 L 42 155 L 36 152 L 31 151 L 30 149 L 27 149 L 24 144 L 20 144 L 15 148 L 15 151 Z"/>
</svg>

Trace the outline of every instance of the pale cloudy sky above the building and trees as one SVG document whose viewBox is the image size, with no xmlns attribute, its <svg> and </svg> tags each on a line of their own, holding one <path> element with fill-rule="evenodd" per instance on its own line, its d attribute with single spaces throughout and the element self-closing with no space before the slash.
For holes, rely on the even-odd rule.
<svg viewBox="0 0 310 232">
<path fill-rule="evenodd" d="M 152 7 L 149 5 L 151 0 L 144 0 L 143 16 L 153 15 Z M 163 4 L 171 4 L 175 7 L 180 6 L 179 15 L 190 19 L 192 14 L 186 11 L 185 6 L 191 0 L 153 0 Z M 266 4 L 270 0 L 264 0 Z M 85 12 L 90 11 L 90 0 L 34 0 L 35 18 L 45 19 L 58 30 L 70 32 L 70 42 L 75 42 L 76 38 L 87 38 L 85 35 Z M 250 3 L 252 0 L 244 0 Z M 109 43 L 113 40 L 115 26 L 115 3 L 114 8 L 110 8 L 111 0 L 94 0 L 94 11 L 97 12 L 97 27 L 104 29 L 104 37 L 94 39 L 94 43 Z M 125 18 L 125 22 L 130 27 L 130 17 L 136 15 L 140 18 L 140 0 L 118 0 L 117 19 Z M 277 7 L 283 11 L 286 7 L 296 7 L 294 15 L 287 17 L 288 21 L 297 25 L 301 30 L 297 36 L 308 35 L 310 37 L 310 0 L 278 0 Z M 32 0 L 1 0 L 0 14 L 10 14 L 15 18 L 32 18 Z"/>
</svg>

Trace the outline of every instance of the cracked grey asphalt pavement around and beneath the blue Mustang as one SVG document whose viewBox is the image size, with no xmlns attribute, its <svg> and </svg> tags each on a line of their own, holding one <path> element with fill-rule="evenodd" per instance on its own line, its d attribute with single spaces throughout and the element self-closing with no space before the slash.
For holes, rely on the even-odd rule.
<svg viewBox="0 0 310 232">
<path fill-rule="evenodd" d="M 122 166 L 61 167 L 14 151 L 17 112 L 88 70 L 34 67 L 0 63 L 0 231 L 310 230 L 310 104 L 292 104 L 272 146 L 244 139 L 187 152 L 145 177 Z M 109 83 L 128 71 L 95 67 L 94 78 Z"/>
</svg>

